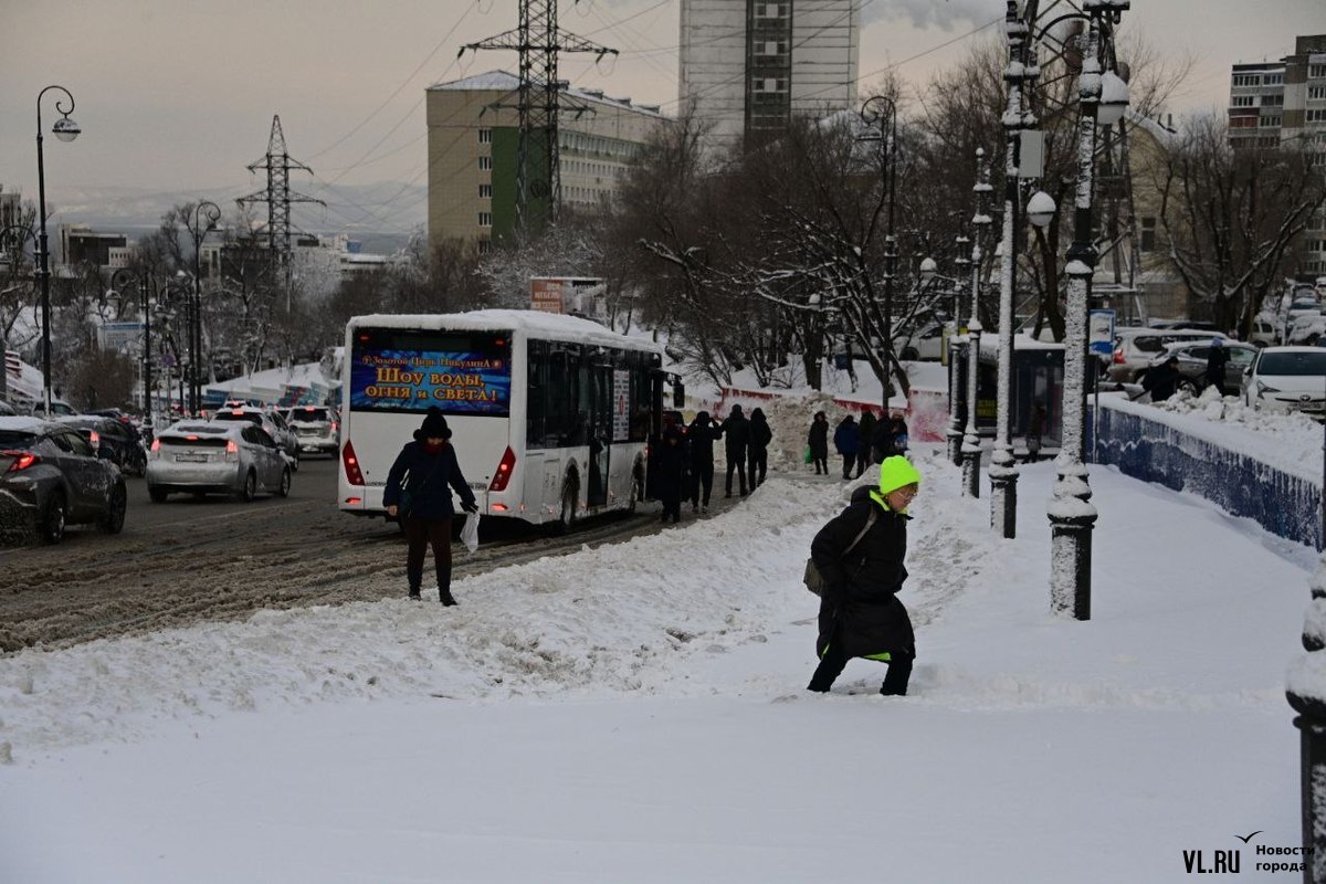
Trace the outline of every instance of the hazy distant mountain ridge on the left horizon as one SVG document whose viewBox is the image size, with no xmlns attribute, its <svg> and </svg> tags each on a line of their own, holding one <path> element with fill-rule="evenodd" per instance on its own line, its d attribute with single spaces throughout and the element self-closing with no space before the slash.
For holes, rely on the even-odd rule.
<svg viewBox="0 0 1326 884">
<path fill-rule="evenodd" d="M 134 187 L 60 187 L 46 192 L 52 229 L 56 224 L 88 224 L 94 228 L 151 231 L 162 216 L 180 203 L 208 199 L 229 217 L 235 197 L 257 190 L 236 192 L 233 187 L 191 191 L 150 191 Z M 422 228 L 428 216 L 428 188 L 422 184 L 378 182 L 374 184 L 324 184 L 318 179 L 292 182 L 292 190 L 326 203 L 296 203 L 290 219 L 308 232 L 349 233 L 351 237 L 404 236 Z M 24 193 L 34 200 L 36 193 Z M 265 204 L 255 207 L 267 215 Z"/>
</svg>

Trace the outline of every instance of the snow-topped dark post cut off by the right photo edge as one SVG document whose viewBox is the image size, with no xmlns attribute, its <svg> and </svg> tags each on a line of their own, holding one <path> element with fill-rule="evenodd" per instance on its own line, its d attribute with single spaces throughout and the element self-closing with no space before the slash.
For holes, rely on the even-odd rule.
<svg viewBox="0 0 1326 884">
<path fill-rule="evenodd" d="M 1303 820 L 1303 880 L 1326 883 L 1326 554 L 1310 582 L 1303 649 L 1289 667 L 1285 697 L 1298 717 L 1299 802 Z"/>
</svg>

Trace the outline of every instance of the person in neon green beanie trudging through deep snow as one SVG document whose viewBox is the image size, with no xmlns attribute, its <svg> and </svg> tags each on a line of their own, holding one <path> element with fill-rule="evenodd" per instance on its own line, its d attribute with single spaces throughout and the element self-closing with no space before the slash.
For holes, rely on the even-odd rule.
<svg viewBox="0 0 1326 884">
<path fill-rule="evenodd" d="M 907 579 L 907 506 L 920 473 L 902 456 L 879 465 L 879 486 L 862 485 L 842 513 L 810 543 L 823 577 L 819 596 L 819 665 L 808 685 L 825 693 L 853 657 L 888 664 L 879 693 L 903 696 L 916 659 L 916 636 L 898 592 Z"/>
</svg>

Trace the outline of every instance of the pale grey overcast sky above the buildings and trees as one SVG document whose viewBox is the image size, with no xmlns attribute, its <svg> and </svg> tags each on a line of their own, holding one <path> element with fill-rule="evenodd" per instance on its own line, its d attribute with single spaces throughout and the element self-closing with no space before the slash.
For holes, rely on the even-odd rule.
<svg viewBox="0 0 1326 884">
<path fill-rule="evenodd" d="M 564 56 L 577 86 L 676 109 L 682 0 L 561 0 L 561 25 L 621 52 Z M 733 0 L 740 3 L 740 0 Z M 1042 0 L 1042 7 L 1050 0 Z M 863 0 L 862 89 L 898 65 L 923 83 L 1001 19 L 1002 0 Z M 1200 60 L 1172 107 L 1224 105 L 1229 65 L 1326 32 L 1326 0 L 1132 0 L 1124 29 Z M 265 186 L 247 166 L 280 114 L 321 182 L 424 183 L 424 89 L 513 52 L 456 53 L 516 27 L 517 0 L 0 0 L 0 184 L 37 196 L 36 98 L 68 87 L 84 134 L 46 139 L 48 199 L 65 188 L 190 191 L 217 203 Z M 972 36 L 976 32 L 976 36 Z M 49 130 L 54 93 L 42 102 Z M 308 176 L 292 176 L 300 188 Z"/>
</svg>

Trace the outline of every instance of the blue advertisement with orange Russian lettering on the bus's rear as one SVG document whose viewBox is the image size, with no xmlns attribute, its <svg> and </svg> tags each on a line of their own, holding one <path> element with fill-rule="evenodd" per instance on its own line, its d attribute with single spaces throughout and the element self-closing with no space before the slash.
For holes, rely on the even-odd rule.
<svg viewBox="0 0 1326 884">
<path fill-rule="evenodd" d="M 350 403 L 355 411 L 427 411 L 505 417 L 511 364 L 475 351 L 355 347 Z"/>
</svg>

